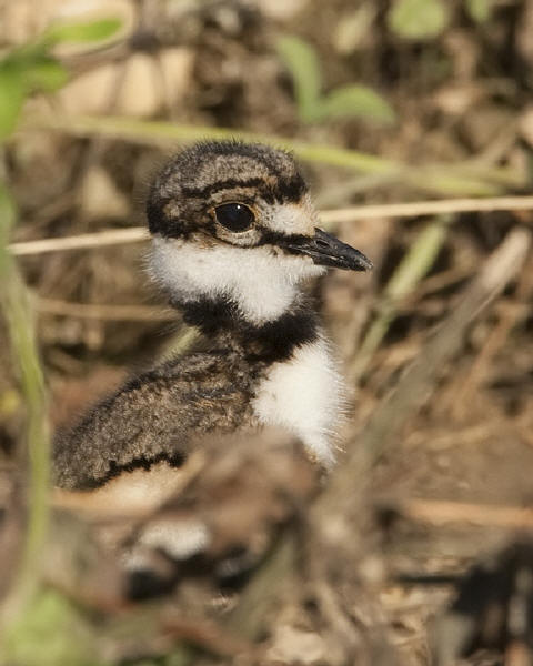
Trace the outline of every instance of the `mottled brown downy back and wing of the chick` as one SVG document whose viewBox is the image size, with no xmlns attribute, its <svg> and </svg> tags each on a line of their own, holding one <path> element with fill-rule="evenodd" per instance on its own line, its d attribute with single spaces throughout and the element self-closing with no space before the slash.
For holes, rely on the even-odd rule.
<svg viewBox="0 0 533 666">
<path fill-rule="evenodd" d="M 244 359 L 225 349 L 139 375 L 57 437 L 57 485 L 87 490 L 162 461 L 180 465 L 192 433 L 232 432 L 251 420 L 251 379 Z"/>
</svg>

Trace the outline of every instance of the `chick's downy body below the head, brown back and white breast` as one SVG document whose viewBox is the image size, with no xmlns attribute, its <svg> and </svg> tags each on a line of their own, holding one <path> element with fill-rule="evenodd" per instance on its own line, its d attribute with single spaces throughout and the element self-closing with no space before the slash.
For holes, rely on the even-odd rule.
<svg viewBox="0 0 533 666">
<path fill-rule="evenodd" d="M 222 325 L 209 351 L 139 375 L 58 436 L 56 483 L 95 488 L 162 461 L 179 466 L 193 435 L 250 425 L 290 430 L 329 467 L 342 394 L 328 345 L 303 312 L 258 330 L 242 322 L 231 334 Z"/>
</svg>

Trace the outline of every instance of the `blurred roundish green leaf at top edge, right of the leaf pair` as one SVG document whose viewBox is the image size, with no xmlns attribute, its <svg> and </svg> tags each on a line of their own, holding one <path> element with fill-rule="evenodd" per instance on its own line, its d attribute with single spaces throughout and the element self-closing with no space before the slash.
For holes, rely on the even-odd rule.
<svg viewBox="0 0 533 666">
<path fill-rule="evenodd" d="M 399 37 L 431 39 L 446 28 L 450 10 L 441 0 L 396 0 L 386 20 Z"/>
</svg>

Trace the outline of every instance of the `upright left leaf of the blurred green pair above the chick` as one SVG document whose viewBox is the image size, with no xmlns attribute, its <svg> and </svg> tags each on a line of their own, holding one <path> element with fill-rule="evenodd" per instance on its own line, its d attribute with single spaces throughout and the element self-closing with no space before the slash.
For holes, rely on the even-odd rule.
<svg viewBox="0 0 533 666">
<path fill-rule="evenodd" d="M 320 117 L 321 73 L 316 52 L 299 37 L 278 39 L 278 54 L 292 75 L 300 119 L 314 122 Z"/>
</svg>

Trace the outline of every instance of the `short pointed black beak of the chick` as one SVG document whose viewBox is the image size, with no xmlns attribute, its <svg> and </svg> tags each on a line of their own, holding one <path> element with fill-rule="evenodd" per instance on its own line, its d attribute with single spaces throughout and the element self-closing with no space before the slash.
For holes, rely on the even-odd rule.
<svg viewBox="0 0 533 666">
<path fill-rule="evenodd" d="M 372 262 L 362 252 L 342 243 L 321 229 L 315 229 L 312 238 L 299 236 L 298 240 L 291 241 L 288 248 L 295 254 L 308 254 L 315 264 L 321 266 L 333 266 L 346 271 L 370 271 L 372 269 Z"/>
</svg>

